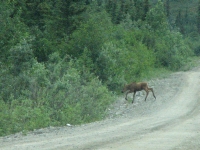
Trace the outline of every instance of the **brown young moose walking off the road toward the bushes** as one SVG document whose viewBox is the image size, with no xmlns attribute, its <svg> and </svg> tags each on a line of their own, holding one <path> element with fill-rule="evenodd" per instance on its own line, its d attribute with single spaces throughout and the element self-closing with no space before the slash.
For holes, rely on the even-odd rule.
<svg viewBox="0 0 200 150">
<path fill-rule="evenodd" d="M 123 88 L 123 90 L 122 90 L 122 93 L 128 91 L 128 92 L 126 93 L 126 97 L 125 97 L 126 100 L 127 100 L 127 95 L 128 95 L 129 93 L 133 93 L 133 101 L 132 101 L 132 103 L 133 103 L 133 102 L 134 102 L 135 93 L 136 93 L 137 91 L 142 91 L 142 90 L 145 90 L 145 91 L 146 91 L 145 101 L 146 101 L 146 99 L 147 99 L 147 96 L 148 96 L 148 94 L 149 94 L 149 91 L 151 91 L 151 92 L 153 93 L 153 96 L 154 96 L 155 99 L 156 99 L 156 96 L 155 96 L 155 94 L 154 94 L 154 92 L 153 92 L 153 88 L 149 88 L 146 82 L 138 82 L 138 83 L 133 82 L 133 83 L 131 83 L 131 84 L 125 85 L 124 88 Z"/>
</svg>

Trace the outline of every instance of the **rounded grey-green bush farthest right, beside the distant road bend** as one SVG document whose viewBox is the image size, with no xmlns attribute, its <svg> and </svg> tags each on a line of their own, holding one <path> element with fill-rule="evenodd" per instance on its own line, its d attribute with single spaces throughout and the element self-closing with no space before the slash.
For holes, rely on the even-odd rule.
<svg viewBox="0 0 200 150">
<path fill-rule="evenodd" d="M 171 70 L 178 70 L 193 55 L 179 32 L 166 32 L 166 35 L 157 39 L 155 44 L 157 65 L 162 65 Z"/>
</svg>

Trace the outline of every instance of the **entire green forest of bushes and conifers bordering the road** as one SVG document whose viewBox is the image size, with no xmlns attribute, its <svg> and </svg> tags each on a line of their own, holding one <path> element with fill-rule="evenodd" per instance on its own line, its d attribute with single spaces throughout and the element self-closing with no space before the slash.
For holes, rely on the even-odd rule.
<svg viewBox="0 0 200 150">
<path fill-rule="evenodd" d="M 101 120 L 125 83 L 198 55 L 199 0 L 3 0 L 0 136 Z"/>
</svg>

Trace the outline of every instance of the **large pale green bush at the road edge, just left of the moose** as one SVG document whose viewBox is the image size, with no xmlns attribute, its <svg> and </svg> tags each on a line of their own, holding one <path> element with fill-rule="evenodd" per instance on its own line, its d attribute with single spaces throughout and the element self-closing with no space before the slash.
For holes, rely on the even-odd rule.
<svg viewBox="0 0 200 150">
<path fill-rule="evenodd" d="M 55 70 L 49 73 L 49 78 L 54 80 L 51 80 L 48 91 L 45 91 L 48 92 L 46 99 L 53 108 L 54 119 L 59 118 L 61 124 L 79 124 L 101 119 L 106 107 L 113 101 L 113 95 L 98 78 L 77 68 L 82 67 L 80 60 L 66 62 L 66 59 L 57 63 Z"/>
</svg>

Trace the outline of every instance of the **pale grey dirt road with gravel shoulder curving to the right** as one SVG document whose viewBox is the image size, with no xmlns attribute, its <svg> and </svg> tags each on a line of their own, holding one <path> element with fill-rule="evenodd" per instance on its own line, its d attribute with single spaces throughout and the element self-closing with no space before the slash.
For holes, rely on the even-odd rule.
<svg viewBox="0 0 200 150">
<path fill-rule="evenodd" d="M 135 104 L 121 97 L 104 121 L 2 137 L 0 149 L 200 149 L 200 69 L 174 73 L 149 85 L 154 88 L 156 100 L 151 93 L 147 102 L 142 93 L 136 95 Z"/>
</svg>

